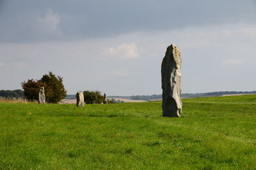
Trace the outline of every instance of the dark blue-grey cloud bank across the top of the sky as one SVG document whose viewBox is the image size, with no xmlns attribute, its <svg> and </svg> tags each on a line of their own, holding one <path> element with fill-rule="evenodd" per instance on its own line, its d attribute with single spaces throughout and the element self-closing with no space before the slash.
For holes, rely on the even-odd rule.
<svg viewBox="0 0 256 170">
<path fill-rule="evenodd" d="M 0 41 L 70 41 L 135 31 L 172 30 L 234 22 L 255 23 L 256 8 L 253 2 L 10 0 L 1 3 Z M 38 23 L 38 17 L 44 17 L 47 11 L 60 16 L 55 32 L 47 31 Z"/>
</svg>

